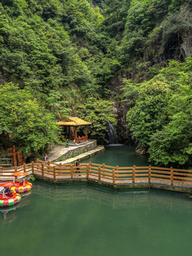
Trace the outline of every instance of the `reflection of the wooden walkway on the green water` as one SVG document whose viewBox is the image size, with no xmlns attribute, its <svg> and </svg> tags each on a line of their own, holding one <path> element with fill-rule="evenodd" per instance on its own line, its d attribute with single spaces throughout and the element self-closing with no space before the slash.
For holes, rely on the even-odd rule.
<svg viewBox="0 0 192 256">
<path fill-rule="evenodd" d="M 54 186 L 47 183 L 35 183 L 34 194 L 45 201 L 90 201 L 115 209 L 123 208 L 164 208 L 165 210 L 178 210 L 183 200 L 192 200 L 190 195 L 157 189 L 138 189 L 113 191 L 100 186 Z M 191 205 L 183 206 L 192 212 Z M 183 210 L 183 209 L 182 209 Z"/>
</svg>

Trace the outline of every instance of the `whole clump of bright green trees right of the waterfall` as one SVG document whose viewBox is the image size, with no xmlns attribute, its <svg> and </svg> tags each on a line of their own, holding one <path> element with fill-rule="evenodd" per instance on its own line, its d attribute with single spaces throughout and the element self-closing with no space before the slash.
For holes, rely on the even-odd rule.
<svg viewBox="0 0 192 256">
<path fill-rule="evenodd" d="M 128 111 L 128 127 L 155 164 L 192 164 L 191 66 L 191 57 L 184 63 L 173 60 L 152 80 L 137 85 L 139 94 Z"/>
</svg>

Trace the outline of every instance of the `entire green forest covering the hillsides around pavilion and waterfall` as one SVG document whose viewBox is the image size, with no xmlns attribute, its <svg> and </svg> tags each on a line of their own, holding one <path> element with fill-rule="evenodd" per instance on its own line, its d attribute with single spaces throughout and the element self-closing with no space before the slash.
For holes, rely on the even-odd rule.
<svg viewBox="0 0 192 256">
<path fill-rule="evenodd" d="M 192 1 L 0 0 L 0 147 L 57 144 L 57 120 L 192 168 Z M 114 111 L 115 109 L 115 111 Z"/>
</svg>

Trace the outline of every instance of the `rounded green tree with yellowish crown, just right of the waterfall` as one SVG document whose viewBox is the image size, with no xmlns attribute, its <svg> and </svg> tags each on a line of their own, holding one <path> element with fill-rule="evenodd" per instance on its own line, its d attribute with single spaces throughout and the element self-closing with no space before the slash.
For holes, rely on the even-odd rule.
<svg viewBox="0 0 192 256">
<path fill-rule="evenodd" d="M 166 94 L 169 87 L 163 82 L 143 82 L 135 106 L 127 114 L 132 137 L 148 148 L 150 136 L 166 122 Z"/>
</svg>

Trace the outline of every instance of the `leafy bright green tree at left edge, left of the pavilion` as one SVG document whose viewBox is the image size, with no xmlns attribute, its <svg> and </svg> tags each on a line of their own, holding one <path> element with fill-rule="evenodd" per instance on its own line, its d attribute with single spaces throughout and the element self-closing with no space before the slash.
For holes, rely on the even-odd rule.
<svg viewBox="0 0 192 256">
<path fill-rule="evenodd" d="M 0 87 L 0 134 L 8 142 L 26 153 L 42 153 L 48 144 L 58 142 L 57 132 L 54 115 L 28 90 L 12 82 Z"/>
</svg>

